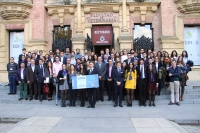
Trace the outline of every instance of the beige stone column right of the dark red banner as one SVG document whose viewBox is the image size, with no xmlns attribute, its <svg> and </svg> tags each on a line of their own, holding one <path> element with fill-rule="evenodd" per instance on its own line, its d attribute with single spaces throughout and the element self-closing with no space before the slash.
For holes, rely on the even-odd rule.
<svg viewBox="0 0 200 133">
<path fill-rule="evenodd" d="M 126 0 L 122 0 L 122 29 L 121 33 L 118 37 L 118 41 L 120 44 L 120 49 L 131 49 L 133 43 L 133 36 L 130 35 L 130 32 L 127 28 L 127 6 Z"/>
</svg>

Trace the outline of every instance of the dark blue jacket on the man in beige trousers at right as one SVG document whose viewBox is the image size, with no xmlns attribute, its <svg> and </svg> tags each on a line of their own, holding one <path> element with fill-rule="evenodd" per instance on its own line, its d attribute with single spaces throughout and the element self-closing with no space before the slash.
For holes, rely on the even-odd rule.
<svg viewBox="0 0 200 133">
<path fill-rule="evenodd" d="M 179 81 L 179 76 L 181 74 L 181 69 L 180 67 L 176 66 L 176 68 L 174 69 L 173 67 L 169 68 L 169 73 L 172 74 L 172 76 L 170 76 L 170 82 L 174 82 L 174 81 Z"/>
</svg>

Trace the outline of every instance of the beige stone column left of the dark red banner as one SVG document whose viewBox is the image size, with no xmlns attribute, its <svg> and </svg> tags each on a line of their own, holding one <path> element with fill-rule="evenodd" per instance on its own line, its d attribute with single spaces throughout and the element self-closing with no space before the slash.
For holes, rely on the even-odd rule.
<svg viewBox="0 0 200 133">
<path fill-rule="evenodd" d="M 82 30 L 82 10 L 81 10 L 81 0 L 77 0 L 77 9 L 76 9 L 76 19 L 77 19 L 77 29 L 76 34 L 72 38 L 72 49 L 75 51 L 77 48 L 81 50 L 81 53 L 83 53 L 84 50 L 84 44 L 85 44 L 85 37 L 83 35 Z"/>
</svg>

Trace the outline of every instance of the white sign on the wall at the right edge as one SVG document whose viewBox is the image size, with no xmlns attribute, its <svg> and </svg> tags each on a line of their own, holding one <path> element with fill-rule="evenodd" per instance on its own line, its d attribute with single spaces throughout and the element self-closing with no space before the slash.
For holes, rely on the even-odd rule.
<svg viewBox="0 0 200 133">
<path fill-rule="evenodd" d="M 194 65 L 200 65 L 200 26 L 184 28 L 184 49 Z"/>
</svg>

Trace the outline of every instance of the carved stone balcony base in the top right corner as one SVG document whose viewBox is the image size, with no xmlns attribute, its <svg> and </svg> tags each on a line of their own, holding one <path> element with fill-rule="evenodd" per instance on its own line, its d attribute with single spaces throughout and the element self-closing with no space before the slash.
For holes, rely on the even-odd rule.
<svg viewBox="0 0 200 133">
<path fill-rule="evenodd" d="M 182 13 L 200 13 L 200 0 L 174 0 L 174 2 Z"/>
</svg>

